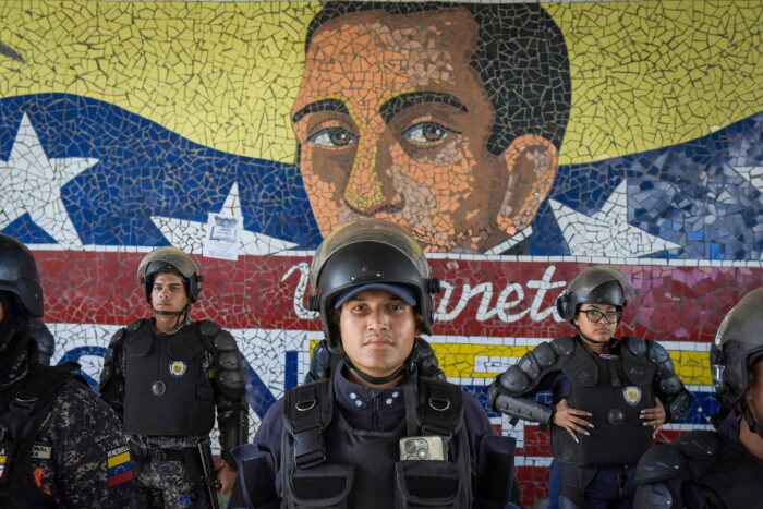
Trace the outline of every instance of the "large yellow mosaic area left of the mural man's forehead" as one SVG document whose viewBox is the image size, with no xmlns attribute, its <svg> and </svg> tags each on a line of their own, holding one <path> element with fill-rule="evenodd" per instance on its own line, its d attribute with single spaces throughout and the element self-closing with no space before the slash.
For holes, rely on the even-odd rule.
<svg viewBox="0 0 763 509">
<path fill-rule="evenodd" d="M 317 3 L 0 2 L 0 97 L 111 102 L 196 143 L 294 161 L 290 110 Z"/>
</svg>

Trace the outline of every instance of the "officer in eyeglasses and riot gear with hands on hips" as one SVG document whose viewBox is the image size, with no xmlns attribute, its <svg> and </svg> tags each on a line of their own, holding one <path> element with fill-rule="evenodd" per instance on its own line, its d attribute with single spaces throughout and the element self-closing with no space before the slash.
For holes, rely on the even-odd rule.
<svg viewBox="0 0 763 509">
<path fill-rule="evenodd" d="M 553 507 L 633 507 L 640 458 L 659 427 L 691 407 L 659 343 L 615 337 L 633 296 L 619 270 L 586 268 L 556 302 L 578 334 L 542 342 L 488 388 L 493 408 L 512 423 L 550 426 L 560 481 Z M 544 390 L 553 404 L 535 400 Z"/>
</svg>

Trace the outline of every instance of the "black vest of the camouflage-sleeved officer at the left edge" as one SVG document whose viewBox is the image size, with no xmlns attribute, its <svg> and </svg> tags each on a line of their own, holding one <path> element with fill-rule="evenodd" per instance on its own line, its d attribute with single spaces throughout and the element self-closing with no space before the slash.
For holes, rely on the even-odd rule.
<svg viewBox="0 0 763 509">
<path fill-rule="evenodd" d="M 0 440 L 0 507 L 56 508 L 52 496 L 43 493 L 33 477 L 32 451 L 43 422 L 68 378 L 87 384 L 71 374 L 80 365 L 37 365 L 2 410 L 4 436 Z M 15 390 L 15 389 L 14 389 Z"/>
</svg>

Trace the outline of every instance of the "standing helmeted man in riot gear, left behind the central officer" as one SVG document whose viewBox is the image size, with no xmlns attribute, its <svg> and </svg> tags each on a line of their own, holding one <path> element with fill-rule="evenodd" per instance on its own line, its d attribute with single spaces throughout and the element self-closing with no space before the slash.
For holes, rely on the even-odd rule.
<svg viewBox="0 0 763 509">
<path fill-rule="evenodd" d="M 214 322 L 191 320 L 202 277 L 177 247 L 146 255 L 137 271 L 154 316 L 114 334 L 100 392 L 121 416 L 145 486 L 138 507 L 217 507 L 237 478 L 230 450 L 246 440 L 242 357 Z M 223 460 L 215 473 L 209 432 L 217 408 Z"/>
</svg>

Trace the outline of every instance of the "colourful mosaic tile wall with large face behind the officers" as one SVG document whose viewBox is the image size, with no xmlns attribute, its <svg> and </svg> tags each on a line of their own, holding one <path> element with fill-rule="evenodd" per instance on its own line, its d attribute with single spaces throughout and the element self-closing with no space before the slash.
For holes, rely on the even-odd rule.
<svg viewBox="0 0 763 509">
<path fill-rule="evenodd" d="M 707 348 L 763 282 L 759 1 L 532 4 L 0 4 L 0 231 L 43 268 L 55 361 L 97 378 L 149 312 L 158 245 L 205 276 L 195 318 L 246 357 L 252 429 L 320 339 L 312 250 L 337 222 L 411 227 L 446 291 L 431 338 L 484 399 L 495 374 L 570 332 L 554 299 L 611 264 L 638 290 L 622 334 L 661 340 L 716 409 Z M 238 258 L 205 253 L 242 218 Z M 548 437 L 510 426 L 528 505 Z"/>
</svg>

